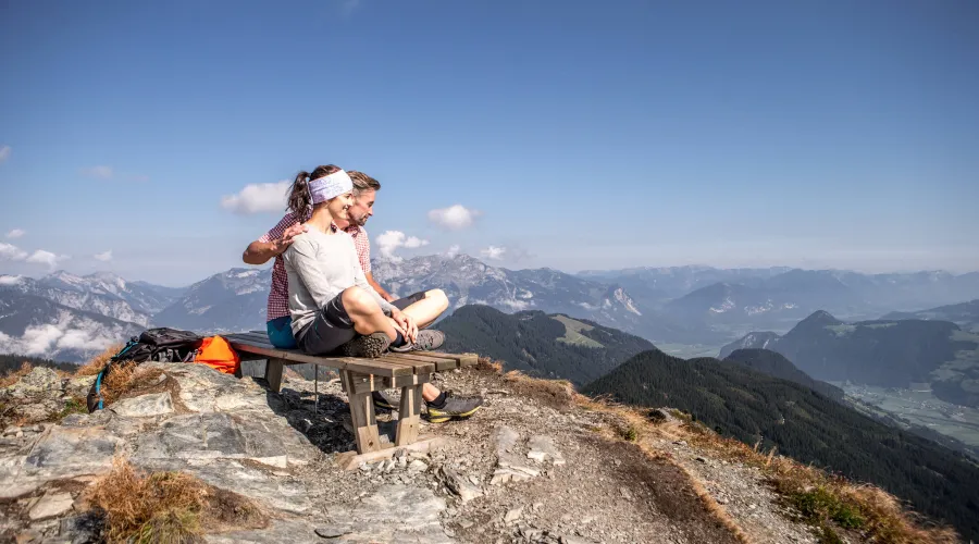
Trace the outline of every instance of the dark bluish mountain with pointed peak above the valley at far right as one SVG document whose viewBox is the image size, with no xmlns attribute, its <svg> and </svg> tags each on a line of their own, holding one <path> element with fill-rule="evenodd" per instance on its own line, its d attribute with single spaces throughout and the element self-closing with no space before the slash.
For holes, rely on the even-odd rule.
<svg viewBox="0 0 979 544">
<path fill-rule="evenodd" d="M 847 323 L 817 311 L 786 334 L 751 333 L 721 348 L 778 351 L 818 380 L 883 387 L 930 385 L 942 400 L 979 406 L 979 334 L 950 321 Z"/>
</svg>

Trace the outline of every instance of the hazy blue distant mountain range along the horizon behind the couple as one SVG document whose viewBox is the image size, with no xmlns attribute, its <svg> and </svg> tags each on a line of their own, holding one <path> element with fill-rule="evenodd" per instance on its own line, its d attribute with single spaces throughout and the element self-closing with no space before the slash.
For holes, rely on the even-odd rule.
<svg viewBox="0 0 979 544">
<path fill-rule="evenodd" d="M 482 304 L 504 312 L 560 313 L 660 345 L 686 346 L 719 346 L 758 329 L 784 332 L 817 307 L 841 308 L 842 316 L 880 316 L 979 297 L 979 273 L 676 267 L 568 274 L 508 270 L 466 255 L 379 259 L 373 272 L 400 295 L 442 288 L 450 310 Z M 38 280 L 0 275 L 0 297 L 33 295 L 141 327 L 230 332 L 264 327 L 270 283 L 269 268 L 235 268 L 183 288 L 128 282 L 108 272 L 59 271 Z M 33 319 L 54 324 L 61 318 Z"/>
</svg>

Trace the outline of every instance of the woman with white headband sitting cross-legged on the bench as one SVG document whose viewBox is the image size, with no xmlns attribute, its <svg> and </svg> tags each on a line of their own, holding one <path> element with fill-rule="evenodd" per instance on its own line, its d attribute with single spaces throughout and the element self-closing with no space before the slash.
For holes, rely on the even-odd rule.
<svg viewBox="0 0 979 544">
<path fill-rule="evenodd" d="M 418 331 L 410 316 L 391 305 L 367 283 L 350 236 L 335 221 L 347 222 L 354 203 L 352 182 L 332 164 L 300 172 L 289 205 L 312 208 L 306 232 L 293 238 L 283 261 L 288 274 L 289 314 L 298 347 L 308 354 L 340 348 L 348 357 L 381 357 L 388 346 L 435 349 L 437 331 Z"/>
</svg>

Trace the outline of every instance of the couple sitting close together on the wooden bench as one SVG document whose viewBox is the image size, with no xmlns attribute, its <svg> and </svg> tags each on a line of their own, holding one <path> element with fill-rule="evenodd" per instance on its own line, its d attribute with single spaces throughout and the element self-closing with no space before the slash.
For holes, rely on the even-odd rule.
<svg viewBox="0 0 979 544">
<path fill-rule="evenodd" d="M 381 184 L 360 172 L 332 164 L 300 172 L 292 186 L 289 211 L 251 243 L 244 260 L 262 264 L 275 258 L 269 293 L 268 332 L 275 347 L 310 355 L 381 357 L 437 349 L 439 331 L 424 330 L 448 308 L 441 289 L 394 300 L 370 273 L 370 242 L 363 224 L 373 215 Z M 424 384 L 429 419 L 434 423 L 472 416 L 479 397 L 456 397 Z M 395 409 L 384 393 L 374 405 Z"/>
</svg>

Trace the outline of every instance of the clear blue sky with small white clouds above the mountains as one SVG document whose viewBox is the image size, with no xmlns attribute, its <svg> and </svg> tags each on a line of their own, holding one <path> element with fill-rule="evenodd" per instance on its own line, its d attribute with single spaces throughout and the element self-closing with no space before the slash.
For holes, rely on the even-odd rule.
<svg viewBox="0 0 979 544">
<path fill-rule="evenodd" d="M 284 181 L 373 251 L 979 270 L 979 3 L 3 2 L 0 272 L 186 285 Z"/>
</svg>

